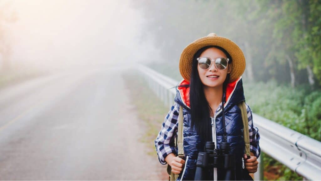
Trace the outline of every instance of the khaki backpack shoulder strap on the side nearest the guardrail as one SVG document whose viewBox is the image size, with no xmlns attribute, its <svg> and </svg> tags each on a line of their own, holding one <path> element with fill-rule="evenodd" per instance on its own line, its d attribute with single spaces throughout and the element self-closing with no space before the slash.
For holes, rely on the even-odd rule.
<svg viewBox="0 0 321 181">
<path fill-rule="evenodd" d="M 245 142 L 245 154 L 247 157 L 250 156 L 250 135 L 248 133 L 248 118 L 247 118 L 247 110 L 246 110 L 246 105 L 245 101 L 242 101 L 238 104 L 238 107 L 241 110 L 242 113 L 242 120 L 243 120 L 243 137 L 244 137 L 244 142 Z"/>
</svg>

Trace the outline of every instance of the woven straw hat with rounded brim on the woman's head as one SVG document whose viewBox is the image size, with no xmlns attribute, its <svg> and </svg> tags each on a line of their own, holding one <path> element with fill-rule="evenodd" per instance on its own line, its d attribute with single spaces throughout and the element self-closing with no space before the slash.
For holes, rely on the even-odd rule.
<svg viewBox="0 0 321 181">
<path fill-rule="evenodd" d="M 217 36 L 215 33 L 210 33 L 206 37 L 199 38 L 185 47 L 179 58 L 179 72 L 182 77 L 188 82 L 190 81 L 194 54 L 197 50 L 209 45 L 222 47 L 230 54 L 232 58 L 230 82 L 238 79 L 245 70 L 245 57 L 243 52 L 236 43 L 227 38 Z"/>
</svg>

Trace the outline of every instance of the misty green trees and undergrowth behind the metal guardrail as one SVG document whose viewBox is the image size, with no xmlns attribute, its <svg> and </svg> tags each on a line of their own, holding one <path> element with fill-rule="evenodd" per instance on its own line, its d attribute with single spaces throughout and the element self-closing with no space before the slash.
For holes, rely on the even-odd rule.
<svg viewBox="0 0 321 181">
<path fill-rule="evenodd" d="M 321 0 L 135 2 L 163 56 L 151 68 L 180 80 L 178 60 L 189 43 L 210 32 L 227 37 L 246 57 L 243 77 L 253 81 L 244 83 L 245 94 L 253 112 L 321 140 Z M 280 168 L 276 179 L 302 179 L 265 160 L 266 167 Z"/>
</svg>

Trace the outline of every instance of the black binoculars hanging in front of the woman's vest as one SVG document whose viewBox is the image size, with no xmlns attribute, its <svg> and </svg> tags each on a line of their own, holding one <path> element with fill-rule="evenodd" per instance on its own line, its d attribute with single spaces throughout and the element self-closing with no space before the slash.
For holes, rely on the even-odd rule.
<svg viewBox="0 0 321 181">
<path fill-rule="evenodd" d="M 194 180 L 213 180 L 209 178 L 209 169 L 213 168 L 223 170 L 220 171 L 218 180 L 236 180 L 235 156 L 230 154 L 228 142 L 221 142 L 220 149 L 215 149 L 214 142 L 206 142 L 204 152 L 199 152 L 197 156 Z"/>
</svg>

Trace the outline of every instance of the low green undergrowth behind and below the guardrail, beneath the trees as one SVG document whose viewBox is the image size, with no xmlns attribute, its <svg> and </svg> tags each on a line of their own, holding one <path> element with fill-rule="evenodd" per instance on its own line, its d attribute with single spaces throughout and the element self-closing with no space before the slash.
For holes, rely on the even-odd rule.
<svg viewBox="0 0 321 181">
<path fill-rule="evenodd" d="M 247 104 L 253 113 L 278 122 L 292 130 L 321 141 L 321 92 L 312 91 L 309 86 L 292 88 L 279 85 L 271 80 L 264 82 L 245 82 Z M 264 157 L 266 172 L 273 172 L 277 180 L 302 180 L 295 172 L 269 156 Z"/>
</svg>

